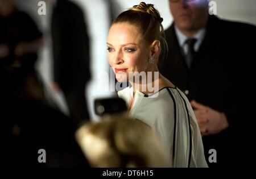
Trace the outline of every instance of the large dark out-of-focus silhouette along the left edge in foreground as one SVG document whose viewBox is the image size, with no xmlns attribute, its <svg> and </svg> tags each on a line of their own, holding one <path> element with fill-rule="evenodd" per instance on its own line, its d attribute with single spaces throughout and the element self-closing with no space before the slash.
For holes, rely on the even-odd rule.
<svg viewBox="0 0 256 179">
<path fill-rule="evenodd" d="M 35 72 L 42 34 L 9 0 L 0 0 L 1 161 L 5 167 L 88 166 L 76 126 L 44 100 Z M 39 163 L 39 149 L 46 163 Z M 39 152 L 39 153 L 38 153 Z"/>
</svg>

